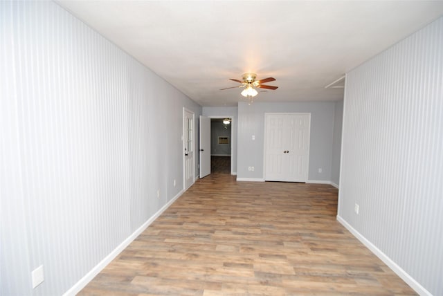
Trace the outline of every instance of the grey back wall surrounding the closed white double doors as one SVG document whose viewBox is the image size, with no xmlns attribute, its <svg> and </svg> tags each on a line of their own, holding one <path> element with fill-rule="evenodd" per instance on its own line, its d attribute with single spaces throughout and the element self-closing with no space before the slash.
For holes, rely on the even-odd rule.
<svg viewBox="0 0 443 296">
<path fill-rule="evenodd" d="M 264 113 L 311 113 L 309 181 L 329 183 L 332 169 L 334 113 L 336 102 L 265 103 L 238 105 L 237 178 L 262 180 L 264 153 Z M 255 140 L 252 140 L 255 136 Z M 254 172 L 248 167 L 255 167 Z M 322 173 L 318 168 L 323 169 Z"/>
</svg>

